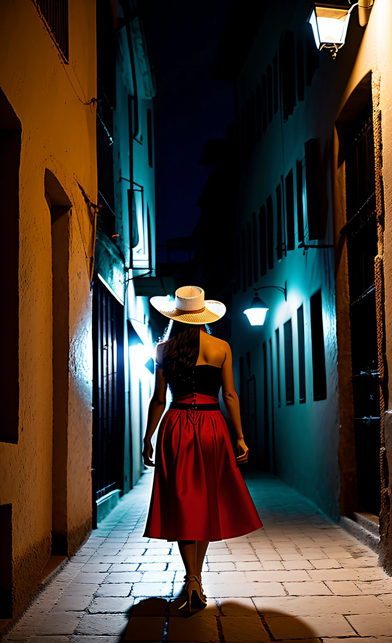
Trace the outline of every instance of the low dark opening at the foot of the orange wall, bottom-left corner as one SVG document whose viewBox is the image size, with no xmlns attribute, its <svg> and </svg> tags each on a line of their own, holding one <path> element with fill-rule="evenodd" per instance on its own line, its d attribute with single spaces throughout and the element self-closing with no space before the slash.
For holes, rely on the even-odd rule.
<svg viewBox="0 0 392 643">
<path fill-rule="evenodd" d="M 12 505 L 0 505 L 0 619 L 12 619 Z"/>
</svg>

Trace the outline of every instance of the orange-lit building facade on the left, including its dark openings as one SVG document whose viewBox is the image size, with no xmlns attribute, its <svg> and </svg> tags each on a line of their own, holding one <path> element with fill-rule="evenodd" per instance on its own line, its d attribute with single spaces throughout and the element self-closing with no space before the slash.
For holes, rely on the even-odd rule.
<svg viewBox="0 0 392 643">
<path fill-rule="evenodd" d="M 91 530 L 95 2 L 6 1 L 0 25 L 3 627 Z"/>
</svg>

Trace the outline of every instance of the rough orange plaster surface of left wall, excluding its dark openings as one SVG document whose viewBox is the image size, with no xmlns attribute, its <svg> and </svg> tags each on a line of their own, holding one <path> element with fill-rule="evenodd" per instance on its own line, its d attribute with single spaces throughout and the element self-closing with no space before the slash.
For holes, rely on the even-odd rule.
<svg viewBox="0 0 392 643">
<path fill-rule="evenodd" d="M 51 552 L 51 222 L 49 168 L 71 201 L 68 553 L 91 529 L 91 296 L 96 203 L 95 2 L 69 2 L 70 64 L 63 64 L 31 0 L 0 5 L 0 86 L 22 125 L 19 186 L 19 441 L 0 444 L 0 503 L 12 503 L 14 616 Z M 6 338 L 5 338 L 6 341 Z"/>
</svg>

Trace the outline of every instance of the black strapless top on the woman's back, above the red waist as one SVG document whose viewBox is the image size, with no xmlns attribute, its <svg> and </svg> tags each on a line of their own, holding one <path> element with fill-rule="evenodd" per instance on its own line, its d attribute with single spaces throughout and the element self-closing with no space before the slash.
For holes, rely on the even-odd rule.
<svg viewBox="0 0 392 643">
<path fill-rule="evenodd" d="M 188 367 L 174 363 L 166 380 L 173 399 L 194 393 L 218 397 L 222 385 L 222 369 L 210 364 Z"/>
</svg>

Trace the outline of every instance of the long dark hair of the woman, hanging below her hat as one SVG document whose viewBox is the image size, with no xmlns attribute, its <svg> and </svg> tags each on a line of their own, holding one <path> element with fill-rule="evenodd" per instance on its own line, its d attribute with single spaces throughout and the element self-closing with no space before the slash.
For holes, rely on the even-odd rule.
<svg viewBox="0 0 392 643">
<path fill-rule="evenodd" d="M 174 368 L 174 362 L 191 367 L 196 364 L 200 349 L 200 331 L 208 332 L 206 324 L 185 325 L 181 321 L 173 321 L 169 341 L 163 349 L 163 377 Z"/>
</svg>

